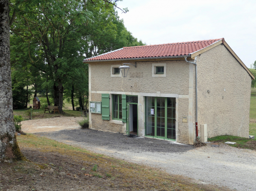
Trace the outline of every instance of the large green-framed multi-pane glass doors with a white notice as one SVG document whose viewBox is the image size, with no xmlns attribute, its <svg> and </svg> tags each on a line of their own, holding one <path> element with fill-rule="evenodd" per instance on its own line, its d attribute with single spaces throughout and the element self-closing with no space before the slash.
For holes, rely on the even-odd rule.
<svg viewBox="0 0 256 191">
<path fill-rule="evenodd" d="M 146 135 L 176 139 L 175 97 L 146 97 Z"/>
</svg>

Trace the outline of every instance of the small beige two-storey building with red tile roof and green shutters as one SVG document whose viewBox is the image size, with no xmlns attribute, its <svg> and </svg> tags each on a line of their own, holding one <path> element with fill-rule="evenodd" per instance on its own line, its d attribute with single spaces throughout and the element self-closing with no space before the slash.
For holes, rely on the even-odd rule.
<svg viewBox="0 0 256 191">
<path fill-rule="evenodd" d="M 224 38 L 123 47 L 83 62 L 91 129 L 185 144 L 249 136 L 255 77 Z"/>
</svg>

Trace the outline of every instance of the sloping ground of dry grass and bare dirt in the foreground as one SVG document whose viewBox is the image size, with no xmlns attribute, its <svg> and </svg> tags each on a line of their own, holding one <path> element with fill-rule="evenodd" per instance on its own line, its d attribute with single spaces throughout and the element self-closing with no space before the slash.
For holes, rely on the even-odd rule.
<svg viewBox="0 0 256 191">
<path fill-rule="evenodd" d="M 17 139 L 22 153 L 31 162 L 0 164 L 1 191 L 230 191 L 41 136 L 29 134 Z"/>
</svg>

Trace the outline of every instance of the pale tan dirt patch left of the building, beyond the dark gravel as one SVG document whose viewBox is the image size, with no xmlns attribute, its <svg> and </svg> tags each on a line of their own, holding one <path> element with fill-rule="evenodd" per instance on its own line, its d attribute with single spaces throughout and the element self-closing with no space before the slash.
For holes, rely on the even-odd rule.
<svg viewBox="0 0 256 191">
<path fill-rule="evenodd" d="M 25 133 L 53 132 L 65 129 L 77 129 L 77 121 L 82 117 L 55 116 L 45 119 L 32 119 L 21 122 L 21 131 Z"/>
</svg>

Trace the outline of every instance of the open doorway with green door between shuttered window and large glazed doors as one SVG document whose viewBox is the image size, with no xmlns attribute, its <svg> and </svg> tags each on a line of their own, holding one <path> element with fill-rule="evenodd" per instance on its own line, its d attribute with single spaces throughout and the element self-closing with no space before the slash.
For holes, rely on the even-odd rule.
<svg viewBox="0 0 256 191">
<path fill-rule="evenodd" d="M 128 135 L 138 135 L 138 110 L 137 104 L 128 104 Z"/>
</svg>

